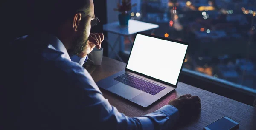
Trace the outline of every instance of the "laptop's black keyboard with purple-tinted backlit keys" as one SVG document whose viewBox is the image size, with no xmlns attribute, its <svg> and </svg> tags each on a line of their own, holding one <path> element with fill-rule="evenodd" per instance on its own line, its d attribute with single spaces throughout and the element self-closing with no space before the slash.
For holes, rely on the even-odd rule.
<svg viewBox="0 0 256 130">
<path fill-rule="evenodd" d="M 129 85 L 133 88 L 137 88 L 139 90 L 142 90 L 146 93 L 156 95 L 160 91 L 164 90 L 166 87 L 162 87 L 156 84 L 153 84 L 151 82 L 147 82 L 145 80 L 139 79 L 137 77 L 131 76 L 127 73 L 120 75 L 114 80 L 124 83 L 125 85 Z"/>
</svg>

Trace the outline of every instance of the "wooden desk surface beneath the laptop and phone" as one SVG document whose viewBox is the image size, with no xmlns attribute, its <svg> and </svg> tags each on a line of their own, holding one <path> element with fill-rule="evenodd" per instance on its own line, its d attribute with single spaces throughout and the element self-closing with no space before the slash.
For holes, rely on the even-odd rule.
<svg viewBox="0 0 256 130">
<path fill-rule="evenodd" d="M 111 76 L 125 69 L 125 63 L 103 57 L 102 65 L 97 66 L 91 76 L 95 82 Z M 87 68 L 88 71 L 92 68 Z M 190 93 L 201 98 L 202 109 L 201 113 L 190 122 L 185 124 L 177 124 L 173 130 L 203 130 L 203 127 L 211 122 L 221 118 L 222 116 L 229 116 L 240 123 L 239 130 L 256 130 L 256 107 L 252 107 L 232 99 L 219 96 L 191 85 L 178 83 L 174 92 L 167 94 L 162 99 L 147 108 L 140 107 L 126 99 L 116 96 L 106 90 L 102 90 L 103 96 L 109 100 L 111 105 L 116 107 L 119 112 L 126 116 L 142 116 L 151 113 L 169 102 L 169 100 L 177 98 L 183 94 Z"/>
</svg>

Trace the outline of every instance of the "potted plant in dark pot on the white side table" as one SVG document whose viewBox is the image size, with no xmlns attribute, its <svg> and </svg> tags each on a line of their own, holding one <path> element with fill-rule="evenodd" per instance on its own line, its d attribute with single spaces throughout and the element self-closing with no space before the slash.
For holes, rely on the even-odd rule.
<svg viewBox="0 0 256 130">
<path fill-rule="evenodd" d="M 131 5 L 131 0 L 122 0 L 121 5 L 120 3 L 117 4 L 117 8 L 115 8 L 114 11 L 120 12 L 118 20 L 121 26 L 128 26 L 129 19 L 131 18 L 128 11 L 134 6 L 136 6 L 136 4 Z"/>
</svg>

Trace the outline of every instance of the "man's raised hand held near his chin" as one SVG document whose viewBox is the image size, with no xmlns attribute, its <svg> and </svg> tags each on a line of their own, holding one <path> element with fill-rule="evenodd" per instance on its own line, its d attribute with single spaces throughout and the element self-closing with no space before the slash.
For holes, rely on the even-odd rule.
<svg viewBox="0 0 256 130">
<path fill-rule="evenodd" d="M 93 48 L 101 48 L 101 43 L 104 40 L 104 35 L 102 33 L 90 33 L 90 36 L 88 37 L 88 42 L 86 44 L 86 47 L 84 48 L 84 51 L 80 54 L 78 54 L 78 57 L 86 57 L 89 53 L 93 51 Z"/>
</svg>

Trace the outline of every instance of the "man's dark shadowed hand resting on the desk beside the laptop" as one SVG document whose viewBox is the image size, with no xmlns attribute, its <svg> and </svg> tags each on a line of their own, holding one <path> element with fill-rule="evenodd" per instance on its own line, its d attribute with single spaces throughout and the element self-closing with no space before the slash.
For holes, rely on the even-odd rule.
<svg viewBox="0 0 256 130">
<path fill-rule="evenodd" d="M 199 112 L 201 109 L 201 100 L 198 96 L 191 94 L 182 95 L 177 99 L 169 101 L 169 105 L 176 107 L 180 113 L 180 119 L 186 119 L 191 114 Z"/>
</svg>

